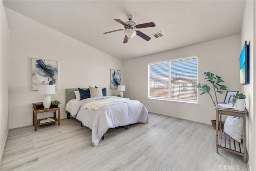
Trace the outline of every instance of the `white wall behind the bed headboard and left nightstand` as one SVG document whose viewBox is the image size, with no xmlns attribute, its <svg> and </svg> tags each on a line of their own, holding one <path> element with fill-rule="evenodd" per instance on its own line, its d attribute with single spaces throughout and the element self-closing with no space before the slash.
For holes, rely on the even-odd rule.
<svg viewBox="0 0 256 171">
<path fill-rule="evenodd" d="M 32 91 L 31 58 L 58 61 L 58 90 L 51 96 L 62 102 L 61 118 L 66 117 L 66 88 L 96 85 L 107 87 L 108 95 L 116 93 L 110 90 L 110 69 L 122 70 L 121 60 L 9 8 L 5 10 L 10 28 L 9 128 L 32 125 L 32 103 L 43 98 Z"/>
</svg>

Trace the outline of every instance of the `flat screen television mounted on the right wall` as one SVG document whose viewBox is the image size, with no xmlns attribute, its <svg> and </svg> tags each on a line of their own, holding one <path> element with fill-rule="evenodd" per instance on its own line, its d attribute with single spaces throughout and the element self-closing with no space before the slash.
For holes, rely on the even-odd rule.
<svg viewBox="0 0 256 171">
<path fill-rule="evenodd" d="M 250 84 L 249 45 L 244 43 L 240 54 L 240 85 Z"/>
</svg>

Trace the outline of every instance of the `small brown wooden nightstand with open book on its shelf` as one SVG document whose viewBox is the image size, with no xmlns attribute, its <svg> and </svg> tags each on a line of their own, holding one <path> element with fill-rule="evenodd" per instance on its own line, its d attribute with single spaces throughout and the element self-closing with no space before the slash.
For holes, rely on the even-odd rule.
<svg viewBox="0 0 256 171">
<path fill-rule="evenodd" d="M 44 109 L 44 105 L 42 102 L 32 103 L 32 105 L 33 105 L 33 125 L 35 126 L 35 131 L 38 125 L 45 125 L 45 124 L 53 123 L 56 121 L 58 121 L 58 125 L 60 125 L 60 107 L 51 106 L 49 109 Z M 40 123 L 41 120 L 47 119 L 47 118 L 37 119 L 37 114 L 49 112 L 49 111 L 54 111 L 54 117 L 50 117 L 50 118 L 53 118 L 55 121 Z M 56 117 L 56 111 L 58 111 L 58 118 Z"/>
</svg>

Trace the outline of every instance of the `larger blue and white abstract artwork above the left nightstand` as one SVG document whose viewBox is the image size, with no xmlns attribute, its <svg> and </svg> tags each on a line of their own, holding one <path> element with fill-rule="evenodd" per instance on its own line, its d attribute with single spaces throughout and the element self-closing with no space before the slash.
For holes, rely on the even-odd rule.
<svg viewBox="0 0 256 171">
<path fill-rule="evenodd" d="M 58 89 L 58 62 L 32 58 L 32 91 L 38 85 L 55 85 Z"/>
</svg>

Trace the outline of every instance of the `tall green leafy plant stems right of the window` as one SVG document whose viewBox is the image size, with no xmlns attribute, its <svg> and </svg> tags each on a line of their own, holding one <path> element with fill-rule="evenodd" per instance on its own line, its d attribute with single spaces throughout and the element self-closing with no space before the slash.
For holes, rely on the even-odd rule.
<svg viewBox="0 0 256 171">
<path fill-rule="evenodd" d="M 202 91 L 200 95 L 209 94 L 214 104 L 214 107 L 216 107 L 216 105 L 218 105 L 217 93 L 222 94 L 223 93 L 222 90 L 225 91 L 228 89 L 228 87 L 226 87 L 226 85 L 221 84 L 221 83 L 224 83 L 224 81 L 221 79 L 220 76 L 214 76 L 214 74 L 208 71 L 205 71 L 203 75 L 205 75 L 204 79 L 206 79 L 206 82 L 210 82 L 210 84 L 212 84 L 212 87 L 214 89 L 215 100 L 213 99 L 214 97 L 212 97 L 210 93 L 210 90 L 211 90 L 210 86 L 208 86 L 207 84 L 201 85 L 201 83 L 199 83 L 197 85 L 197 88 L 199 88 L 199 90 Z"/>
</svg>

